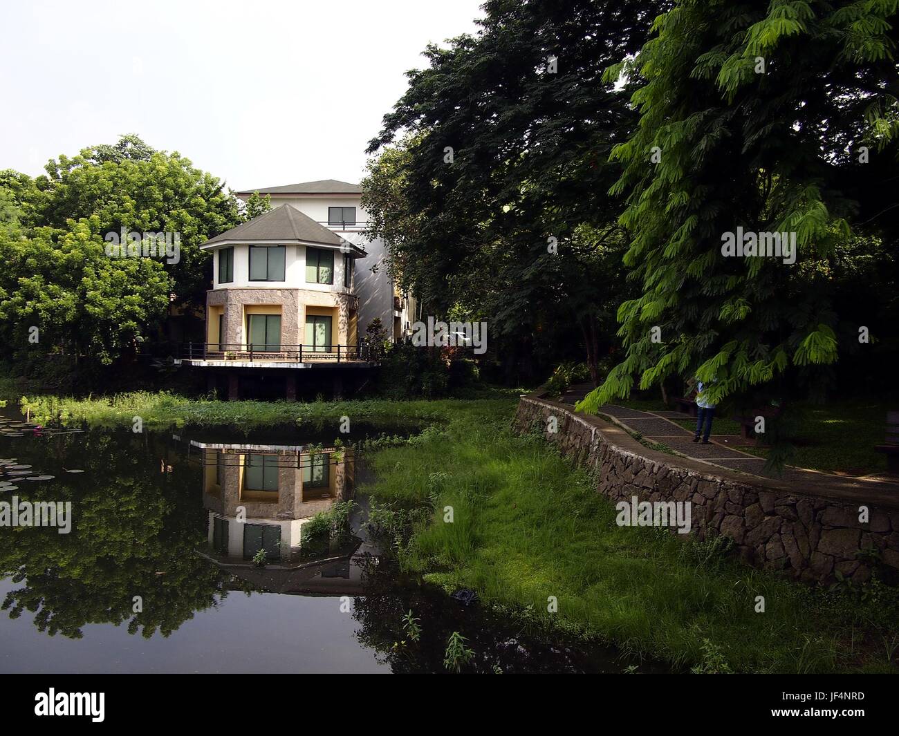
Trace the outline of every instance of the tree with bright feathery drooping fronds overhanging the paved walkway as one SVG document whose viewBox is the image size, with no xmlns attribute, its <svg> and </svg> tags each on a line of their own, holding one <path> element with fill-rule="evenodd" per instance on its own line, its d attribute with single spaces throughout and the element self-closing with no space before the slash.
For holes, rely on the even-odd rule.
<svg viewBox="0 0 899 736">
<path fill-rule="evenodd" d="M 642 294 L 619 310 L 626 359 L 582 408 L 692 375 L 718 401 L 783 400 L 858 350 L 859 326 L 877 333 L 882 315 L 841 321 L 833 296 L 858 237 L 895 248 L 897 5 L 679 0 L 610 69 L 640 84 L 612 192 Z M 797 262 L 725 257 L 737 227 L 795 233 Z"/>
</svg>

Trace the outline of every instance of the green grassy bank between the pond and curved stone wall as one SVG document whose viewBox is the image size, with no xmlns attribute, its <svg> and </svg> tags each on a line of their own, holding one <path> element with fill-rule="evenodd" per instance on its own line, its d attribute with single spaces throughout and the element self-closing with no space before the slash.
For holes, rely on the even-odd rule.
<svg viewBox="0 0 899 736">
<path fill-rule="evenodd" d="M 430 509 L 399 547 L 407 572 L 678 669 L 895 669 L 884 644 L 894 589 L 812 590 L 743 566 L 720 538 L 619 527 L 588 474 L 541 438 L 513 435 L 511 413 L 473 402 L 441 432 L 372 458 L 379 501 Z"/>
</svg>

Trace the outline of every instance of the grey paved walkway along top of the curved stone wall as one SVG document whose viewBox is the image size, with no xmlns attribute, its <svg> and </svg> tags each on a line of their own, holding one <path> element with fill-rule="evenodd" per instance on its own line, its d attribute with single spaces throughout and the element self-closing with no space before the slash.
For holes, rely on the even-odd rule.
<svg viewBox="0 0 899 736">
<path fill-rule="evenodd" d="M 585 395 L 592 391 L 592 384 L 580 384 L 571 386 L 560 401 L 572 404 L 579 402 Z M 699 462 L 712 466 L 725 467 L 742 473 L 768 477 L 762 472 L 765 460 L 762 457 L 750 455 L 740 449 L 746 446 L 747 440 L 740 435 L 712 434 L 709 438 L 711 444 L 696 444 L 693 440 L 693 430 L 686 430 L 680 424 L 672 420 L 690 419 L 688 414 L 672 411 L 642 412 L 638 409 L 628 409 L 626 406 L 605 404 L 601 406 L 600 413 L 610 417 L 621 427 L 632 432 L 639 432 L 644 439 L 659 442 L 675 452 L 690 457 Z M 695 424 L 695 419 L 692 420 Z M 714 430 L 715 425 L 712 425 Z M 890 476 L 868 475 L 860 478 L 831 473 L 821 473 L 817 470 L 787 466 L 779 479 L 799 483 L 830 483 L 831 481 L 846 481 L 872 483 L 878 491 L 899 492 L 899 478 Z"/>
</svg>

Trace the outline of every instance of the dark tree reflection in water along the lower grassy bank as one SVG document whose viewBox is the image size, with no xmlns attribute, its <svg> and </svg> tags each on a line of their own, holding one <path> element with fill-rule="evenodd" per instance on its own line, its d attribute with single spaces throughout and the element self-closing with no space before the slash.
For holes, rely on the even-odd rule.
<svg viewBox="0 0 899 736">
<path fill-rule="evenodd" d="M 353 601 L 353 618 L 360 622 L 360 643 L 378 652 L 394 672 L 445 672 L 449 635 L 463 634 L 474 657 L 463 672 L 620 672 L 627 661 L 619 652 L 590 643 L 557 641 L 535 616 L 501 616 L 480 606 L 463 607 L 442 590 L 415 584 L 402 585 L 382 558 L 377 568 L 368 565 L 365 596 Z M 421 639 L 409 641 L 403 616 L 412 609 L 421 619 Z M 396 646 L 396 643 L 403 642 Z"/>
</svg>

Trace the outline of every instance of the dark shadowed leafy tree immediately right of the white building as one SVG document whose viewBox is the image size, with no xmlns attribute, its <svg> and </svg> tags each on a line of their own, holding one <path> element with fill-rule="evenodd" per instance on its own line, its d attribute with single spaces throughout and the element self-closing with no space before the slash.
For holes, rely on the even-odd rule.
<svg viewBox="0 0 899 736">
<path fill-rule="evenodd" d="M 476 37 L 426 49 L 369 145 L 385 146 L 363 186 L 393 268 L 433 311 L 492 320 L 511 363 L 580 342 L 596 368 L 621 284 L 608 158 L 636 123 L 601 76 L 663 6 L 487 2 Z"/>
</svg>

